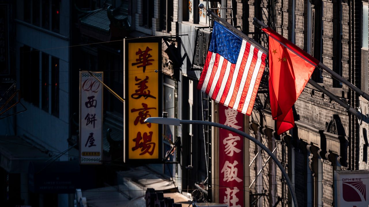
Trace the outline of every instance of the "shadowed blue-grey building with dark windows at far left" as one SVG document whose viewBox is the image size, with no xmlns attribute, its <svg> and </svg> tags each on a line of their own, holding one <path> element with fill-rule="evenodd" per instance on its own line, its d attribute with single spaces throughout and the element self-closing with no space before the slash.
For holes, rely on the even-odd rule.
<svg viewBox="0 0 369 207">
<path fill-rule="evenodd" d="M 28 165 L 45 162 L 69 147 L 70 3 L 34 0 L 1 5 L 8 8 L 6 43 L 11 51 L 7 58 L 10 77 L 2 76 L 2 81 L 15 81 L 20 91 L 17 97 L 20 95 L 22 105 L 11 108 L 10 114 L 24 112 L 1 120 L 1 136 L 5 136 L 1 153 L 6 160 L 1 188 L 2 192 L 3 187 L 7 190 L 1 193 L 4 197 L 0 202 L 9 206 L 68 206 L 68 194 L 29 190 Z M 68 156 L 58 160 L 68 161 Z"/>
</svg>

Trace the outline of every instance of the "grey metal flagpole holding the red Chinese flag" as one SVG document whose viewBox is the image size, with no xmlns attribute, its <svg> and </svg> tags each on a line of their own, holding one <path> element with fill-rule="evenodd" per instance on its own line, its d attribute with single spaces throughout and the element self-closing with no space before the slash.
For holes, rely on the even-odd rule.
<svg viewBox="0 0 369 207">
<path fill-rule="evenodd" d="M 258 20 L 256 17 L 253 18 L 253 24 L 254 25 L 258 25 L 261 28 L 266 28 L 268 27 L 268 25 L 264 24 L 262 21 Z M 278 40 L 277 40 L 278 41 Z M 279 42 L 279 41 L 278 41 Z M 283 43 L 279 42 L 280 44 L 282 44 L 283 46 L 287 47 L 286 45 L 284 45 Z M 294 50 L 291 50 L 292 52 L 294 52 L 296 55 L 298 55 L 299 57 L 301 57 L 302 59 L 306 60 L 308 63 L 311 63 L 309 60 L 307 60 L 306 58 L 302 57 L 301 55 L 297 54 Z M 312 64 L 312 63 L 311 63 Z M 339 74 L 337 74 L 335 71 L 331 70 L 330 68 L 328 68 L 327 66 L 325 66 L 323 63 L 319 62 L 318 67 L 320 67 L 321 69 L 327 71 L 327 73 L 331 74 L 332 77 L 334 77 L 335 79 L 341 81 L 342 83 L 344 83 L 345 85 L 347 85 L 349 88 L 351 88 L 352 90 L 354 90 L 356 93 L 358 93 L 359 95 L 361 95 L 363 98 L 365 98 L 366 100 L 369 101 L 369 95 L 366 94 L 364 91 L 362 91 L 360 88 L 356 87 L 354 84 L 350 83 L 348 80 L 346 80 L 345 78 L 343 78 L 342 76 L 340 76 Z"/>
</svg>

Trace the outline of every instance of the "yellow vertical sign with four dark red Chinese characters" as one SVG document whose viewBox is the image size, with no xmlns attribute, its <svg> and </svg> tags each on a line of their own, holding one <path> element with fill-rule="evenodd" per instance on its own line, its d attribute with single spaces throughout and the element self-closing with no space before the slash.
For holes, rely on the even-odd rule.
<svg viewBox="0 0 369 207">
<path fill-rule="evenodd" d="M 128 159 L 159 158 L 159 43 L 128 43 Z"/>
</svg>

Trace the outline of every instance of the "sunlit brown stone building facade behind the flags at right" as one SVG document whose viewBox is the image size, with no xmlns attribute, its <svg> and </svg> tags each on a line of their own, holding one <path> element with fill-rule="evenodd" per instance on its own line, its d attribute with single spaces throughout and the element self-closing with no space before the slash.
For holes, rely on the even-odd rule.
<svg viewBox="0 0 369 207">
<path fill-rule="evenodd" d="M 268 39 L 252 24 L 254 17 L 368 92 L 368 1 L 236 0 L 226 3 L 225 7 L 232 5 L 235 26 L 240 26 L 263 46 L 268 46 Z M 263 82 L 268 83 L 268 74 L 264 75 L 250 117 L 250 134 L 275 151 L 294 183 L 299 206 L 336 206 L 334 171 L 368 169 L 368 101 L 330 74 L 315 69 L 312 79 L 359 108 L 363 120 L 307 84 L 294 105 L 296 127 L 277 136 L 269 93 L 262 88 Z M 249 192 L 251 206 L 292 206 L 281 172 L 267 159 L 266 153 L 250 143 L 250 183 L 255 179 Z"/>
</svg>

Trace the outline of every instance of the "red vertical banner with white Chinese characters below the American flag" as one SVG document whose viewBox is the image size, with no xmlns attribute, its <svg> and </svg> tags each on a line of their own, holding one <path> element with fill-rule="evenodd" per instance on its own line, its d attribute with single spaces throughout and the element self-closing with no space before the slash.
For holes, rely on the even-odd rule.
<svg viewBox="0 0 369 207">
<path fill-rule="evenodd" d="M 219 105 L 219 123 L 244 131 L 244 115 Z M 219 129 L 219 203 L 244 206 L 244 137 Z"/>
</svg>

